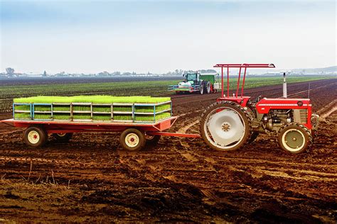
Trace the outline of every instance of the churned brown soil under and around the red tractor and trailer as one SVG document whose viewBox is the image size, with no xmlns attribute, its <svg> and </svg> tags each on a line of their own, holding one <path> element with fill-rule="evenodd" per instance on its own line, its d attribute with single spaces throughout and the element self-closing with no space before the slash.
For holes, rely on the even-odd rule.
<svg viewBox="0 0 337 224">
<path fill-rule="evenodd" d="M 291 97 L 307 96 L 308 83 L 288 87 Z M 78 133 L 67 144 L 50 138 L 46 147 L 30 149 L 22 130 L 0 125 L 0 222 L 334 223 L 337 79 L 311 82 L 311 89 L 314 111 L 323 118 L 311 151 L 300 155 L 283 152 L 263 135 L 236 152 L 215 152 L 201 140 L 163 138 L 156 147 L 129 153 L 111 133 Z M 245 94 L 278 97 L 282 86 Z M 181 118 L 171 131 L 198 133 L 203 108 L 217 97 L 173 96 Z"/>
</svg>

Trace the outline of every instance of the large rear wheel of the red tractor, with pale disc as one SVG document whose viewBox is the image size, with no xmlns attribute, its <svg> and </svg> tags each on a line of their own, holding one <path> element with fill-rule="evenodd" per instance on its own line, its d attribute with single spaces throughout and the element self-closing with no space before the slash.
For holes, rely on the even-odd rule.
<svg viewBox="0 0 337 224">
<path fill-rule="evenodd" d="M 201 137 L 214 150 L 239 149 L 250 139 L 251 129 L 247 111 L 231 101 L 213 103 L 201 116 Z"/>
</svg>

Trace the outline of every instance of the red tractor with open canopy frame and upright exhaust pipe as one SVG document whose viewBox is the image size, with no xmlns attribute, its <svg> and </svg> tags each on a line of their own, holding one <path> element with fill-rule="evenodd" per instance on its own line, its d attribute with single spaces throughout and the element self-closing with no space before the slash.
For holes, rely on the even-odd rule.
<svg viewBox="0 0 337 224">
<path fill-rule="evenodd" d="M 218 64 L 221 68 L 221 97 L 205 109 L 200 121 L 203 140 L 215 150 L 237 150 L 249 144 L 260 133 L 277 135 L 283 150 L 300 153 L 311 147 L 318 127 L 319 116 L 311 113 L 310 99 L 287 99 L 284 77 L 284 96 L 279 99 L 243 95 L 247 68 L 274 68 L 273 64 Z M 223 70 L 227 68 L 227 95 L 224 93 Z M 229 68 L 239 68 L 237 89 L 230 96 Z M 244 70 L 241 94 L 240 77 Z"/>
</svg>

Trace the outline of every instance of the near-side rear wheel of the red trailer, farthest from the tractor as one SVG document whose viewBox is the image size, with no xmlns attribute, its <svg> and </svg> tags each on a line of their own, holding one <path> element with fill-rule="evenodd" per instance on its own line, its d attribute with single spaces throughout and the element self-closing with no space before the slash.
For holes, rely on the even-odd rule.
<svg viewBox="0 0 337 224">
<path fill-rule="evenodd" d="M 48 134 L 44 128 L 29 127 L 23 134 L 23 140 L 31 147 L 41 147 L 46 144 Z"/>
</svg>

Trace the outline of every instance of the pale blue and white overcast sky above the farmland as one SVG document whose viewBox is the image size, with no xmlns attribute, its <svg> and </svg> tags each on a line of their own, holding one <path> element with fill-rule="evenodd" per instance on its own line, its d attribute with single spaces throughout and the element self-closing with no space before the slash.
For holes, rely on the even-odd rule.
<svg viewBox="0 0 337 224">
<path fill-rule="evenodd" d="M 336 1 L 6 1 L 1 70 L 97 73 L 336 65 Z"/>
</svg>

